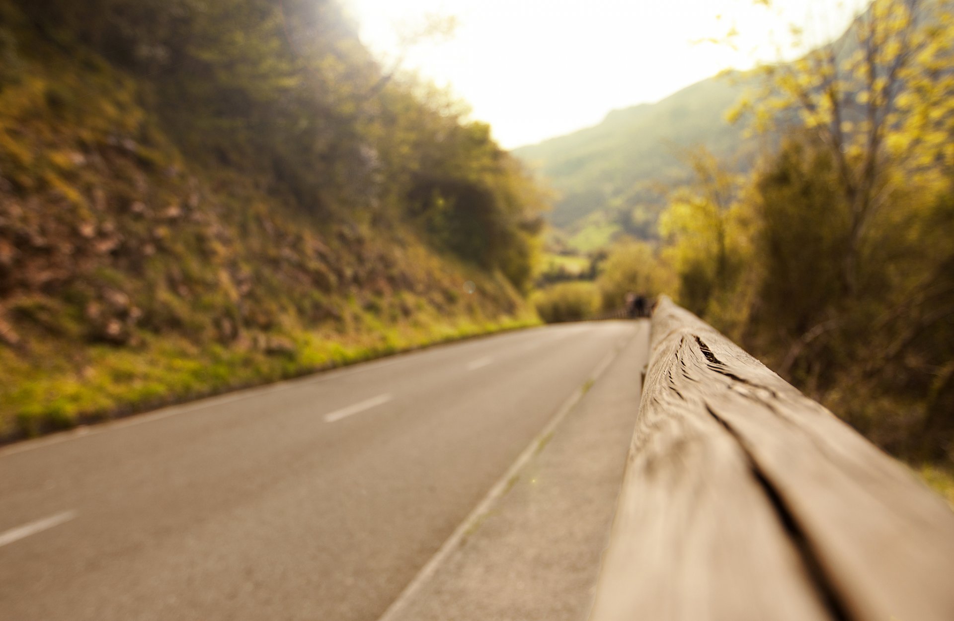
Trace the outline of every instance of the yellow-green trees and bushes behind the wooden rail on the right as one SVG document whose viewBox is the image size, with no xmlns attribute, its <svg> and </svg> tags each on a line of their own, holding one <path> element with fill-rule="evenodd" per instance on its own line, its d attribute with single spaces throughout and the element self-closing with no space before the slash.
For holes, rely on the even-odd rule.
<svg viewBox="0 0 954 621">
<path fill-rule="evenodd" d="M 755 71 L 735 116 L 778 148 L 747 173 L 689 152 L 658 241 L 596 278 L 608 307 L 674 295 L 948 498 L 952 63 L 949 3 L 876 0 L 831 46 Z"/>
</svg>

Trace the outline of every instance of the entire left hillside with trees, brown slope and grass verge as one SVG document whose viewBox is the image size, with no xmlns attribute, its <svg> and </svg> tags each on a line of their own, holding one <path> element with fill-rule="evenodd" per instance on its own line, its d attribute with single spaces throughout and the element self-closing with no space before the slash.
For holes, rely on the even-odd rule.
<svg viewBox="0 0 954 621">
<path fill-rule="evenodd" d="M 334 0 L 0 0 L 0 438 L 534 322 L 545 208 Z"/>
</svg>

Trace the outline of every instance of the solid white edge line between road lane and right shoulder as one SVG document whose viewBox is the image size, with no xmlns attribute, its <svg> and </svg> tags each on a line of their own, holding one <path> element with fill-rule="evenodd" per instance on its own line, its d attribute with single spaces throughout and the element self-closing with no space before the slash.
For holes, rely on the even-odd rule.
<svg viewBox="0 0 954 621">
<path fill-rule="evenodd" d="M 627 340 L 629 343 L 629 340 Z M 608 353 L 603 360 L 595 367 L 591 373 L 589 380 L 595 382 L 599 376 L 606 371 L 612 364 L 613 359 L 622 351 L 624 348 L 616 349 Z M 588 381 L 587 384 L 590 382 Z M 543 438 L 547 437 L 560 422 L 566 417 L 566 415 L 573 409 L 573 406 L 579 402 L 583 395 L 586 393 L 583 387 L 576 389 L 570 394 L 570 397 L 563 402 L 563 405 L 560 406 L 560 409 L 553 414 L 553 417 L 550 418 L 550 422 L 547 423 L 547 426 L 543 428 L 543 431 L 540 431 L 537 435 L 533 437 L 529 445 L 520 455 L 517 457 L 517 460 L 513 462 L 513 465 L 510 466 L 508 471 L 504 473 L 502 477 L 494 484 L 490 491 L 487 491 L 487 495 L 480 501 L 477 507 L 473 511 L 470 511 L 467 514 L 467 517 L 463 522 L 455 529 L 450 536 L 446 539 L 444 544 L 430 557 L 430 560 L 427 561 L 425 566 L 418 571 L 417 575 L 414 576 L 414 579 L 404 587 L 404 591 L 401 591 L 401 594 L 398 595 L 397 599 L 391 602 L 391 605 L 387 607 L 387 610 L 384 611 L 384 614 L 378 618 L 378 621 L 396 621 L 398 614 L 403 611 L 404 607 L 407 606 L 407 603 L 411 598 L 424 587 L 425 582 L 430 579 L 430 577 L 437 571 L 441 563 L 444 562 L 444 559 L 454 551 L 461 540 L 464 538 L 464 535 L 467 531 L 472 528 L 472 525 L 476 524 L 481 517 L 490 510 L 490 507 L 504 495 L 504 491 L 507 490 L 509 480 L 514 477 L 519 471 L 523 470 L 524 466 L 527 465 L 529 460 L 533 457 L 534 453 L 537 450 L 540 442 Z"/>
</svg>

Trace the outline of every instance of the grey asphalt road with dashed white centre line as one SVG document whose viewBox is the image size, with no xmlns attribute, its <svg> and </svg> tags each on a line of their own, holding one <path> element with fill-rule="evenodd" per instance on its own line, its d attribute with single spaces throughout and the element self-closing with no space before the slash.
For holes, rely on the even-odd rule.
<svg viewBox="0 0 954 621">
<path fill-rule="evenodd" d="M 512 332 L 0 450 L 0 619 L 374 621 L 636 333 Z"/>
</svg>

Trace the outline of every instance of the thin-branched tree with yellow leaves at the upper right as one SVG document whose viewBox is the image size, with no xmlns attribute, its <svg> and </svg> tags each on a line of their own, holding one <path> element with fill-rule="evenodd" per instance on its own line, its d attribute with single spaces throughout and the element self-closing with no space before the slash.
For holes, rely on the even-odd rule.
<svg viewBox="0 0 954 621">
<path fill-rule="evenodd" d="M 765 3 L 763 3 L 765 4 Z M 954 163 L 954 21 L 944 0 L 875 0 L 838 41 L 790 64 L 762 67 L 760 91 L 731 114 L 756 127 L 797 118 L 832 159 L 849 213 L 840 257 L 845 294 L 857 291 L 863 238 L 910 175 Z"/>
</svg>

